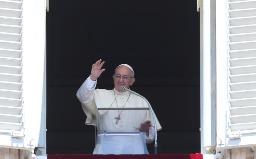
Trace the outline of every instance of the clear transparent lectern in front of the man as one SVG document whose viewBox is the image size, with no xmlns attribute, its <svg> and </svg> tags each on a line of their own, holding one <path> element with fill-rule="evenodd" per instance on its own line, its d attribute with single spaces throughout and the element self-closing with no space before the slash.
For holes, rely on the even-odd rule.
<svg viewBox="0 0 256 159">
<path fill-rule="evenodd" d="M 149 154 L 146 132 L 139 131 L 149 113 L 149 108 L 98 108 L 98 154 Z"/>
</svg>

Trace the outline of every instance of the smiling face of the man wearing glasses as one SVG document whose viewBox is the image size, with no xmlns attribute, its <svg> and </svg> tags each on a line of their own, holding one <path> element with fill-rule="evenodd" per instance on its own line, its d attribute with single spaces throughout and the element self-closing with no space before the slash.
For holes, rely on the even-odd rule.
<svg viewBox="0 0 256 159">
<path fill-rule="evenodd" d="M 116 79 L 115 75 L 120 75 L 121 78 L 120 79 Z M 132 85 L 133 82 L 135 81 L 135 78 L 129 78 L 127 80 L 124 80 L 122 78 L 123 76 L 132 77 L 132 70 L 130 70 L 126 66 L 118 67 L 116 69 L 115 75 L 113 75 L 114 84 L 115 84 L 116 90 L 119 91 L 119 92 L 125 92 L 125 90 L 121 89 L 121 86 L 125 86 L 125 88 L 129 88 L 130 85 Z"/>
</svg>

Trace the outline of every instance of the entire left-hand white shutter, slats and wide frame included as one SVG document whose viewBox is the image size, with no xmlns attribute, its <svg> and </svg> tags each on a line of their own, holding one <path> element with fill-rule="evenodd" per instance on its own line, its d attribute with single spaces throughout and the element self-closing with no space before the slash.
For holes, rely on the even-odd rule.
<svg viewBox="0 0 256 159">
<path fill-rule="evenodd" d="M 0 0 L 0 147 L 46 154 L 46 0 Z"/>
</svg>

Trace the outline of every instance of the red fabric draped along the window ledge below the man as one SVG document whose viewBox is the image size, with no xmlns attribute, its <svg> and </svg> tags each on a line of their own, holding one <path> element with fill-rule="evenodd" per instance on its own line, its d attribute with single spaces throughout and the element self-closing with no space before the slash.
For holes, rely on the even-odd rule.
<svg viewBox="0 0 256 159">
<path fill-rule="evenodd" d="M 47 159 L 203 159 L 203 155 L 196 154 L 144 154 L 144 155 L 47 155 Z"/>
</svg>

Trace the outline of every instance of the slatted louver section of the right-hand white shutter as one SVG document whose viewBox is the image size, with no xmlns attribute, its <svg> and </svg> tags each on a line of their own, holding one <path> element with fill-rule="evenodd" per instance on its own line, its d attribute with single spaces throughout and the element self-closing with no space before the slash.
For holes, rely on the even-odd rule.
<svg viewBox="0 0 256 159">
<path fill-rule="evenodd" d="M 256 1 L 232 0 L 229 7 L 232 135 L 256 132 Z"/>
</svg>

